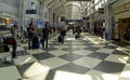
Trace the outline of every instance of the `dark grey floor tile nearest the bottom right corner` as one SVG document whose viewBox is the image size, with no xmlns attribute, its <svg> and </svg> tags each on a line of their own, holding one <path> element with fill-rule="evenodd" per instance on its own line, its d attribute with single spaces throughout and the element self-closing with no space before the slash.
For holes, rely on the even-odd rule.
<svg viewBox="0 0 130 80">
<path fill-rule="evenodd" d="M 120 74 L 123 67 L 125 67 L 125 64 L 104 61 L 100 63 L 96 67 L 94 67 L 94 69 L 104 71 L 107 74 Z"/>
</svg>

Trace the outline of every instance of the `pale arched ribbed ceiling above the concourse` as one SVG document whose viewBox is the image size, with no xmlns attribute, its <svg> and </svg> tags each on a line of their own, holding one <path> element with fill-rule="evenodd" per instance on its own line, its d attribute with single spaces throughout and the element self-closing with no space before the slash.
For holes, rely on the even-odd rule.
<svg viewBox="0 0 130 80">
<path fill-rule="evenodd" d="M 91 0 L 44 0 L 44 4 L 60 16 L 70 17 L 73 9 L 82 12 Z M 68 16 L 69 14 L 69 16 Z"/>
</svg>

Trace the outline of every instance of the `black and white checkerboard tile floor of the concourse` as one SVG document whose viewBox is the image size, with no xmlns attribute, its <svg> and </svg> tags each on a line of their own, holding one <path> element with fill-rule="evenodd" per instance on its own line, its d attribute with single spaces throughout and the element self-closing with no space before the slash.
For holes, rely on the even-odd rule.
<svg viewBox="0 0 130 80">
<path fill-rule="evenodd" d="M 56 37 L 49 49 L 28 50 L 18 44 L 11 64 L 0 62 L 0 80 L 130 80 L 130 46 L 67 32 L 65 43 Z"/>
</svg>

